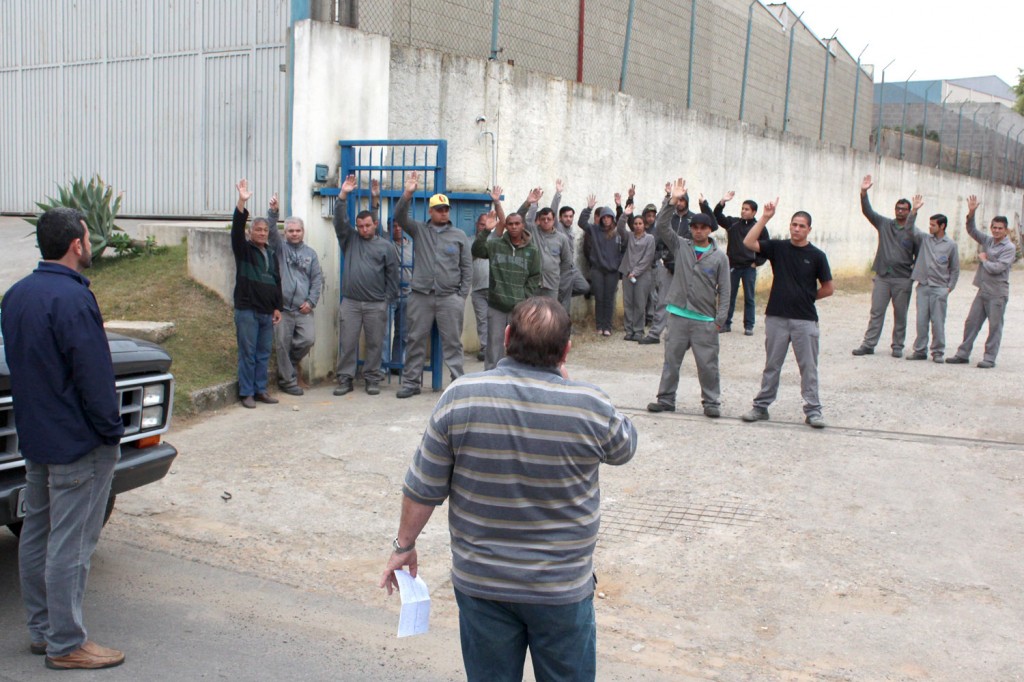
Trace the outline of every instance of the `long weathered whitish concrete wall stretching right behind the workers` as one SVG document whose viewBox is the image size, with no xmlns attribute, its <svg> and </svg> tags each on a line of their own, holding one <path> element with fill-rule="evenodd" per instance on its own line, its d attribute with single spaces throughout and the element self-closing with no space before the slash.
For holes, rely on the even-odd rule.
<svg viewBox="0 0 1024 682">
<path fill-rule="evenodd" d="M 924 211 L 946 213 L 961 238 L 968 195 L 981 198 L 985 222 L 995 213 L 1021 213 L 1024 191 L 997 183 L 892 159 L 879 163 L 870 153 L 484 59 L 397 45 L 391 54 L 395 105 L 388 135 L 447 139 L 453 190 L 488 185 L 489 143 L 480 139 L 485 128 L 498 139 L 498 183 L 510 205 L 538 184 L 550 197 L 556 177 L 566 181 L 563 204 L 578 210 L 588 194 L 606 204 L 631 183 L 640 205 L 657 203 L 665 181 L 676 176 L 688 180 L 693 198 L 702 193 L 714 202 L 735 189 L 731 214 L 738 214 L 741 198 L 763 204 L 780 197 L 772 236 L 787 233 L 794 211 L 809 211 L 811 239 L 827 251 L 839 276 L 865 274 L 874 253 L 873 230 L 859 209 L 865 174 L 874 176 L 871 197 L 879 210 L 891 210 L 899 197 L 923 194 Z M 481 114 L 487 121 L 477 125 Z M 962 243 L 964 253 L 973 252 L 968 247 Z"/>
</svg>

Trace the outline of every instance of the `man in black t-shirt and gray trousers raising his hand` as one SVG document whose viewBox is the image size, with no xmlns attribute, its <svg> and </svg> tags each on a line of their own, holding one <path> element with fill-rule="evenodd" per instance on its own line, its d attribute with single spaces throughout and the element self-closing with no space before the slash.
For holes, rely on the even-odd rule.
<svg viewBox="0 0 1024 682">
<path fill-rule="evenodd" d="M 758 241 L 777 206 L 778 199 L 769 202 L 761 218 L 743 238 L 744 247 L 768 259 L 774 276 L 765 308 L 766 358 L 761 391 L 754 398 L 754 408 L 742 419 L 744 422 L 768 419 L 768 406 L 778 394 L 779 373 L 792 345 L 800 368 L 804 421 L 816 429 L 823 429 L 825 422 L 818 400 L 818 312 L 814 302 L 833 295 L 831 270 L 824 252 L 807 241 L 811 215 L 806 211 L 793 214 L 788 240 Z"/>
</svg>

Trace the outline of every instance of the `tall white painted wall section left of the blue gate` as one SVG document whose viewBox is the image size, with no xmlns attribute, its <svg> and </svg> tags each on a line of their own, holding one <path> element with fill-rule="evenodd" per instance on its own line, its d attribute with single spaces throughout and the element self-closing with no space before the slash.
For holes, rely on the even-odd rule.
<svg viewBox="0 0 1024 682">
<path fill-rule="evenodd" d="M 336 171 L 338 140 L 387 136 L 390 41 L 312 20 L 295 25 L 291 212 L 306 223 L 306 243 L 316 250 L 325 289 L 316 307 L 316 344 L 303 363 L 312 377 L 334 371 L 338 356 L 340 256 L 334 227 L 321 217 L 311 194 L 314 166 Z M 283 216 L 284 217 L 284 216 Z"/>
</svg>

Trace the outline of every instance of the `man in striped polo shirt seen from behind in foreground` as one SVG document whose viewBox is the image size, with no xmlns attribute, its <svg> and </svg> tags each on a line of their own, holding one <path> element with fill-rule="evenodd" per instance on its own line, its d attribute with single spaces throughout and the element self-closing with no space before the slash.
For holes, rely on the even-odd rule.
<svg viewBox="0 0 1024 682">
<path fill-rule="evenodd" d="M 507 356 L 449 386 L 406 474 L 394 570 L 416 576 L 416 538 L 449 500 L 452 583 L 470 680 L 596 675 L 593 554 L 598 466 L 629 462 L 637 432 L 607 394 L 565 372 L 569 318 L 553 298 L 512 310 Z"/>
</svg>

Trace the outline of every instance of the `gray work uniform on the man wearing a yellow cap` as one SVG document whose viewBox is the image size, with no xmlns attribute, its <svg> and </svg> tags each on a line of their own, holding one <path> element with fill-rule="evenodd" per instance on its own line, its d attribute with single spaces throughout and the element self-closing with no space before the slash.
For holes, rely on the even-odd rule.
<svg viewBox="0 0 1024 682">
<path fill-rule="evenodd" d="M 401 385 L 419 388 L 427 359 L 430 328 L 437 324 L 441 353 L 452 379 L 463 374 L 462 323 L 466 297 L 473 283 L 473 257 L 465 232 L 447 222 L 413 220 L 410 200 L 402 197 L 394 207 L 394 221 L 413 238 L 413 293 L 409 299 L 409 346 Z"/>
</svg>

